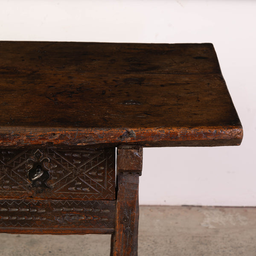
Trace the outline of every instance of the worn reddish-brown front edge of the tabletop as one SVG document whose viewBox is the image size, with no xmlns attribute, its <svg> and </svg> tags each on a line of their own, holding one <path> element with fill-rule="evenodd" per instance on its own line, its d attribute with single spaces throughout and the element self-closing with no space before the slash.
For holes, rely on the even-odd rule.
<svg viewBox="0 0 256 256">
<path fill-rule="evenodd" d="M 146 128 L 27 128 L 0 127 L 0 147 L 29 145 L 90 146 L 137 144 L 144 147 L 240 145 L 239 125 Z M 189 144 L 189 142 L 191 142 Z"/>
</svg>

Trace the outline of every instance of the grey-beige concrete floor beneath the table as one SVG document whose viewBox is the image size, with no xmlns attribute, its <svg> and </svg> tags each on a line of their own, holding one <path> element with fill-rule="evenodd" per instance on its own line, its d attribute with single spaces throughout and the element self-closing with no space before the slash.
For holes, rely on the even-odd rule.
<svg viewBox="0 0 256 256">
<path fill-rule="evenodd" d="M 0 256 L 109 256 L 110 235 L 0 234 Z M 139 256 L 256 256 L 256 208 L 140 207 Z"/>
</svg>

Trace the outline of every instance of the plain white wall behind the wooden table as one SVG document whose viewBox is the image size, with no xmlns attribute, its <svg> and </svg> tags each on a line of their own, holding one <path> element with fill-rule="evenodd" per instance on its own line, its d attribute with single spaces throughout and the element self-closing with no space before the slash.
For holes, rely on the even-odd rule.
<svg viewBox="0 0 256 256">
<path fill-rule="evenodd" d="M 256 206 L 256 1 L 1 0 L 0 40 L 214 44 L 239 147 L 145 148 L 141 204 Z"/>
</svg>

